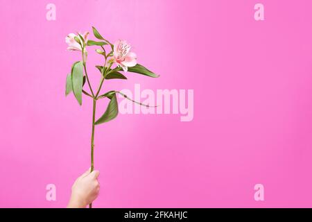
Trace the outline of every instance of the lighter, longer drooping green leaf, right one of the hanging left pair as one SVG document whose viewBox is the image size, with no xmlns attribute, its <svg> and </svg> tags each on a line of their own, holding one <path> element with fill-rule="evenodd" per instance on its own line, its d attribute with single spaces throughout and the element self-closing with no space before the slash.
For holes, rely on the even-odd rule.
<svg viewBox="0 0 312 222">
<path fill-rule="evenodd" d="M 73 63 L 71 68 L 71 83 L 73 88 L 73 94 L 75 95 L 79 105 L 83 103 L 83 62 Z"/>
</svg>

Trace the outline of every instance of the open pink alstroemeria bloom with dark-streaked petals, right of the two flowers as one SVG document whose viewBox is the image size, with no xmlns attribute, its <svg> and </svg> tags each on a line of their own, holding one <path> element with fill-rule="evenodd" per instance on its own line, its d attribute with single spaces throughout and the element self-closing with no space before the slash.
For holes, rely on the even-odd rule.
<svg viewBox="0 0 312 222">
<path fill-rule="evenodd" d="M 137 55 L 130 52 L 130 48 L 131 46 L 125 40 L 117 40 L 114 44 L 114 62 L 123 68 L 123 71 L 128 71 L 128 67 L 137 65 Z"/>
</svg>

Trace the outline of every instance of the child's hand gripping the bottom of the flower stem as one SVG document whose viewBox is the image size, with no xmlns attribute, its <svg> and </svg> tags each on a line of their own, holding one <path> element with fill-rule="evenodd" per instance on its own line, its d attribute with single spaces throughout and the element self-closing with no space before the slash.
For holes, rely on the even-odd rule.
<svg viewBox="0 0 312 222">
<path fill-rule="evenodd" d="M 71 187 L 71 198 L 68 208 L 84 208 L 98 197 L 100 184 L 97 180 L 99 171 L 88 169 L 83 175 L 77 178 Z"/>
</svg>

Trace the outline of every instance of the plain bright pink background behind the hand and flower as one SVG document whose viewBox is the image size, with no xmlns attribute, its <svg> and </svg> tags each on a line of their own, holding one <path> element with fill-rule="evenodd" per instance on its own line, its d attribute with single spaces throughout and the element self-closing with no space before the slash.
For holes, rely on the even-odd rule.
<svg viewBox="0 0 312 222">
<path fill-rule="evenodd" d="M 105 91 L 194 89 L 193 121 L 123 114 L 96 127 L 94 207 L 312 207 L 312 1 L 51 2 L 49 22 L 49 1 L 0 1 L 0 207 L 64 207 L 89 168 L 92 101 L 64 96 L 80 59 L 64 37 L 92 25 L 161 75 L 127 74 Z M 99 61 L 90 56 L 94 87 Z"/>
</svg>

